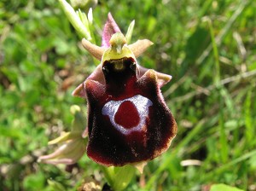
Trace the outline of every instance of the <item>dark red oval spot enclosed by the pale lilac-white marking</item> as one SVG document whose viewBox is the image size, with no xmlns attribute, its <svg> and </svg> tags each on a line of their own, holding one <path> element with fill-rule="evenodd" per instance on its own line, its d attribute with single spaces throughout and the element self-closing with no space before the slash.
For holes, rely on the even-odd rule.
<svg viewBox="0 0 256 191">
<path fill-rule="evenodd" d="M 137 108 L 131 101 L 122 102 L 117 113 L 115 113 L 114 121 L 116 124 L 123 126 L 125 129 L 130 129 L 137 126 L 137 124 L 140 122 Z"/>
</svg>

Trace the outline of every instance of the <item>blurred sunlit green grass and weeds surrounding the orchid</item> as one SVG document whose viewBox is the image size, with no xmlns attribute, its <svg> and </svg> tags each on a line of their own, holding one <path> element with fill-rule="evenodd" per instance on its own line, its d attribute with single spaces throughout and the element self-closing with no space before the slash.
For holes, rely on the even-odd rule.
<svg viewBox="0 0 256 191">
<path fill-rule="evenodd" d="M 178 124 L 171 148 L 127 190 L 208 190 L 225 183 L 256 190 L 256 2 L 99 1 L 95 35 L 110 11 L 132 42 L 154 42 L 143 67 L 173 76 L 163 94 Z M 38 164 L 47 142 L 70 130 L 71 96 L 95 65 L 55 0 L 0 3 L 0 190 L 75 190 L 101 179 L 86 156 L 65 166 Z M 84 121 L 85 124 L 85 121 Z M 49 149 L 49 150 L 47 150 Z"/>
</svg>

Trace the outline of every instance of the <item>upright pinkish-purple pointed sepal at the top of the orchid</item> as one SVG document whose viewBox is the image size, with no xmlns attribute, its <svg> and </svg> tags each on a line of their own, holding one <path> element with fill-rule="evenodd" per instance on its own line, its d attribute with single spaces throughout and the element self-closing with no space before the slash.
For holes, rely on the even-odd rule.
<svg viewBox="0 0 256 191">
<path fill-rule="evenodd" d="M 121 32 L 119 26 L 113 20 L 112 14 L 108 13 L 108 20 L 104 26 L 103 34 L 102 34 L 102 47 L 108 48 L 109 41 L 112 35 L 116 32 Z"/>
</svg>

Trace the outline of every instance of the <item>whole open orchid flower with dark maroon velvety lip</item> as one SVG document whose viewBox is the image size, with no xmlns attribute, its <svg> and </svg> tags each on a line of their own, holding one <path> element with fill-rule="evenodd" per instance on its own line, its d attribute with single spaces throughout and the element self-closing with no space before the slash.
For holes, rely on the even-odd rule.
<svg viewBox="0 0 256 191">
<path fill-rule="evenodd" d="M 104 30 L 111 30 L 103 32 L 103 47 L 83 40 L 84 48 L 101 64 L 73 96 L 88 103 L 90 159 L 107 166 L 144 164 L 164 153 L 177 134 L 177 124 L 160 91 L 172 77 L 138 65 L 136 58 L 148 44 L 126 44 L 111 18 L 108 14 Z"/>
</svg>

